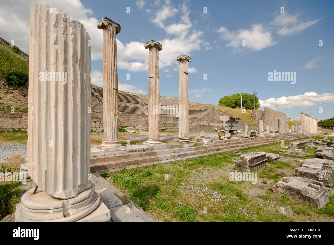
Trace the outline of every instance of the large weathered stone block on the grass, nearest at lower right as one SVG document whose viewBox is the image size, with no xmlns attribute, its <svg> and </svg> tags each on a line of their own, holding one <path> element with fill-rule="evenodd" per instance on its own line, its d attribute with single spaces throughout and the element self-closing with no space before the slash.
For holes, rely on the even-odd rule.
<svg viewBox="0 0 334 245">
<path fill-rule="evenodd" d="M 286 195 L 298 202 L 322 208 L 329 202 L 329 192 L 320 181 L 303 177 L 284 177 L 273 187 L 274 193 Z"/>
</svg>

